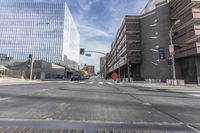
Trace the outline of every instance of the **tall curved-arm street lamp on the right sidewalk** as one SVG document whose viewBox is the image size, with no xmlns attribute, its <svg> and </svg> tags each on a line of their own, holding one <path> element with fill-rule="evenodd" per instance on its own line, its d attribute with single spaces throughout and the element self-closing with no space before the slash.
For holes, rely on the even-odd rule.
<svg viewBox="0 0 200 133">
<path fill-rule="evenodd" d="M 169 38 L 170 38 L 170 45 L 173 49 L 173 53 L 171 54 L 172 57 L 172 71 L 173 71 L 173 80 L 176 80 L 176 67 L 175 67 L 175 58 L 174 58 L 174 44 L 173 44 L 173 40 L 172 40 L 172 33 L 173 33 L 173 28 L 175 25 L 177 25 L 178 23 L 180 23 L 180 19 L 177 20 L 172 27 L 169 30 Z"/>
</svg>

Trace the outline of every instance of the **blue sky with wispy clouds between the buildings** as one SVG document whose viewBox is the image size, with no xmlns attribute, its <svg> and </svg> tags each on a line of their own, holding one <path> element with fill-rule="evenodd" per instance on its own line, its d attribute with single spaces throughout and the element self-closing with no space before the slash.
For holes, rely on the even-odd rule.
<svg viewBox="0 0 200 133">
<path fill-rule="evenodd" d="M 125 15 L 139 15 L 148 0 L 67 0 L 81 35 L 81 47 L 108 52 Z M 80 57 L 99 71 L 102 55 Z"/>
</svg>

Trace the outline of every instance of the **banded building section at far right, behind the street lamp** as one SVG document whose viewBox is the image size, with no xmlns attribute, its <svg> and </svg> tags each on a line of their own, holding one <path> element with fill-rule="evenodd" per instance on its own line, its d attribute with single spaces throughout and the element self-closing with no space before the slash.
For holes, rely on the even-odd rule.
<svg viewBox="0 0 200 133">
<path fill-rule="evenodd" d="M 176 62 L 187 82 L 200 84 L 200 0 L 171 0 Z"/>
</svg>

